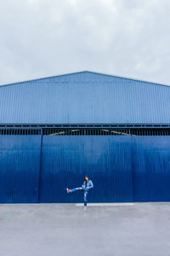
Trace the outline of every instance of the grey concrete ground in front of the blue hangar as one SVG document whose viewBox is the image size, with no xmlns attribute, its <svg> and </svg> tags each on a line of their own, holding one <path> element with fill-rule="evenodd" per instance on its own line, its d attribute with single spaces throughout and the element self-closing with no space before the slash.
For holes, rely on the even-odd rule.
<svg viewBox="0 0 170 256">
<path fill-rule="evenodd" d="M 170 255 L 170 202 L 0 205 L 2 256 Z"/>
</svg>

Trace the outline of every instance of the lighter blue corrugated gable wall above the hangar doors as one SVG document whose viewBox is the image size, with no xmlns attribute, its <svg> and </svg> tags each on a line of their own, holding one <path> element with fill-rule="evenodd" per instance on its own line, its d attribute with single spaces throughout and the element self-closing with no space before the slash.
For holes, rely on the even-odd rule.
<svg viewBox="0 0 170 256">
<path fill-rule="evenodd" d="M 170 87 L 93 72 L 0 87 L 0 123 L 169 123 Z"/>
</svg>

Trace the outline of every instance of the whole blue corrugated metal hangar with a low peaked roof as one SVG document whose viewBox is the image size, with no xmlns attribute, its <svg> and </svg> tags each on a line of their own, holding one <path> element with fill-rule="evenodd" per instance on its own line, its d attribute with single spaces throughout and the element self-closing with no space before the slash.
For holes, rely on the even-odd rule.
<svg viewBox="0 0 170 256">
<path fill-rule="evenodd" d="M 0 87 L 0 202 L 170 200 L 170 87 L 91 71 Z"/>
</svg>

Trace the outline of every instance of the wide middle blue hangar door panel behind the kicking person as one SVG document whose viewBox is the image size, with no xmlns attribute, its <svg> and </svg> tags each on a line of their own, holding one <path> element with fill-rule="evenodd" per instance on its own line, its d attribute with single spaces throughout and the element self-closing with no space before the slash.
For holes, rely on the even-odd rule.
<svg viewBox="0 0 170 256">
<path fill-rule="evenodd" d="M 55 134 L 56 135 L 56 134 Z M 87 174 L 94 182 L 88 202 L 133 202 L 130 136 L 42 136 L 40 202 L 82 202 Z"/>
</svg>

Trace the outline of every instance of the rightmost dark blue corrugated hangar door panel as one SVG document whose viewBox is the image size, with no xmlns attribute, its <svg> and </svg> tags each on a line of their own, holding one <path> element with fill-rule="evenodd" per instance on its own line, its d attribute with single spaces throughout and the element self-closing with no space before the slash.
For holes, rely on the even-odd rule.
<svg viewBox="0 0 170 256">
<path fill-rule="evenodd" d="M 133 136 L 135 202 L 170 201 L 170 136 Z"/>
</svg>

